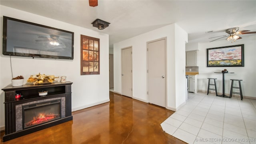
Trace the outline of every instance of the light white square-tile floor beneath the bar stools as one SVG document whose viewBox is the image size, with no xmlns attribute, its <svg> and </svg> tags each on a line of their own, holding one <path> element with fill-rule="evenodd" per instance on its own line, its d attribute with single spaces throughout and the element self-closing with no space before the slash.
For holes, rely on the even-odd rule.
<svg viewBox="0 0 256 144">
<path fill-rule="evenodd" d="M 256 144 L 256 100 L 188 93 L 161 126 L 189 144 Z"/>
</svg>

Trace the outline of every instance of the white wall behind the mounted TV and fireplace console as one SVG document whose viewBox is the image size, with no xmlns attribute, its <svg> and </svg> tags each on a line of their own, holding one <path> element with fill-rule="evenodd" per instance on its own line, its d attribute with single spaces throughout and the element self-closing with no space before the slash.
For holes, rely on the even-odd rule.
<svg viewBox="0 0 256 144">
<path fill-rule="evenodd" d="M 12 56 L 12 70 L 14 77 L 22 75 L 25 80 L 27 80 L 31 74 L 38 74 L 39 72 L 41 74 L 67 76 L 67 80 L 73 82 L 72 111 L 109 101 L 108 34 L 99 33 L 6 6 L 0 6 L 0 14 L 1 38 L 3 16 L 74 32 L 74 60 L 55 60 L 50 58 L 32 59 L 30 57 Z M 80 34 L 100 39 L 99 75 L 80 75 Z M 0 63 L 0 87 L 2 89 L 11 84 L 12 79 L 10 56 L 4 56 L 2 54 L 2 42 Z M 2 126 L 4 126 L 4 92 L 2 90 L 0 98 L 0 126 L 2 128 Z"/>
</svg>

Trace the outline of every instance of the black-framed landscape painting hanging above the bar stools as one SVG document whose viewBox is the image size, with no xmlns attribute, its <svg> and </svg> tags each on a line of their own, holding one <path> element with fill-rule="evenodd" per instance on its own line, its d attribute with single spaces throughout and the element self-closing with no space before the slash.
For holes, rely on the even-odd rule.
<svg viewBox="0 0 256 144">
<path fill-rule="evenodd" d="M 244 66 L 244 44 L 208 48 L 207 67 L 242 67 Z"/>
</svg>

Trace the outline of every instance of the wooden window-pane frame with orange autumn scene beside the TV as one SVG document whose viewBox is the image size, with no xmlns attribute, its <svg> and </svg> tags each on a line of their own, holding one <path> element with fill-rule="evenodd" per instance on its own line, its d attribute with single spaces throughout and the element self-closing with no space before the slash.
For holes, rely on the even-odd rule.
<svg viewBox="0 0 256 144">
<path fill-rule="evenodd" d="M 81 75 L 100 74 L 100 39 L 81 34 Z"/>
</svg>

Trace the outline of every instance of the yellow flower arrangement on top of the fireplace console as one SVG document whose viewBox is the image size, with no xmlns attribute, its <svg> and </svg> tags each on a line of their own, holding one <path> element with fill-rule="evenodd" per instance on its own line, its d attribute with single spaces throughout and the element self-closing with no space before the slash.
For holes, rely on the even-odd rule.
<svg viewBox="0 0 256 144">
<path fill-rule="evenodd" d="M 45 75 L 45 74 L 36 74 L 36 75 L 30 75 L 30 78 L 28 78 L 27 82 L 33 82 L 33 84 L 43 84 L 46 82 L 54 82 L 54 75 Z"/>
</svg>

